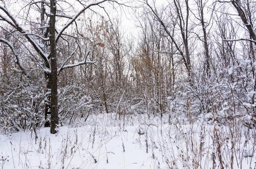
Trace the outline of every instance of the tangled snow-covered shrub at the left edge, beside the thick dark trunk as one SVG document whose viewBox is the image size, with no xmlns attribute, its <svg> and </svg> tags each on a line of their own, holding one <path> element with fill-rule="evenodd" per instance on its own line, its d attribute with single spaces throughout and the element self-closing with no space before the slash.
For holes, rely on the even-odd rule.
<svg viewBox="0 0 256 169">
<path fill-rule="evenodd" d="M 43 88 L 40 81 L 10 76 L 0 82 L 0 126 L 4 131 L 25 131 L 44 123 Z"/>
</svg>

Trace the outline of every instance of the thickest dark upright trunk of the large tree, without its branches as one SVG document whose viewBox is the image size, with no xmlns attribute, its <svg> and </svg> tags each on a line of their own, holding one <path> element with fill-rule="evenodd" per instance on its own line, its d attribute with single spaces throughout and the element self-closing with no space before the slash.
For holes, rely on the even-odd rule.
<svg viewBox="0 0 256 169">
<path fill-rule="evenodd" d="M 58 118 L 58 93 L 57 93 L 57 49 L 55 39 L 55 17 L 56 17 L 56 0 L 50 1 L 50 59 L 51 59 L 51 133 L 57 132 L 59 124 Z"/>
</svg>

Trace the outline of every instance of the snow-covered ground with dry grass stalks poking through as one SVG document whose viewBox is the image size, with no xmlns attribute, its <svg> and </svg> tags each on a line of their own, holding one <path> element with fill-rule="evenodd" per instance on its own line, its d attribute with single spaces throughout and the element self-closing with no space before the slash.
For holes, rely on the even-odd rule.
<svg viewBox="0 0 256 169">
<path fill-rule="evenodd" d="M 199 122 L 170 124 L 168 118 L 149 120 L 145 114 L 120 120 L 115 120 L 115 114 L 99 114 L 82 121 L 74 124 L 76 128 L 60 127 L 56 135 L 49 128 L 39 129 L 37 139 L 31 131 L 1 134 L 0 169 L 218 169 L 232 165 L 253 169 L 256 165 L 255 129 L 238 132 Z"/>
</svg>

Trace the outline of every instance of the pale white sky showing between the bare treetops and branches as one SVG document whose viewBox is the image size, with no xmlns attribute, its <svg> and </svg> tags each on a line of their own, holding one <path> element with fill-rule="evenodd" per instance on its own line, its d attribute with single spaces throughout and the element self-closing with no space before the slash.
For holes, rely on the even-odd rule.
<svg viewBox="0 0 256 169">
<path fill-rule="evenodd" d="M 37 0 L 35 0 L 37 1 Z M 89 0 L 89 3 L 91 3 L 92 1 L 99 1 L 99 0 Z M 143 4 L 141 1 L 143 0 L 118 0 L 119 3 L 127 3 L 127 5 L 129 6 L 133 6 L 136 8 L 128 8 L 125 6 L 118 6 L 117 4 L 114 5 L 115 9 L 113 8 L 112 5 L 110 5 L 110 3 L 103 3 L 101 6 L 104 6 L 107 13 L 110 15 L 111 20 L 115 20 L 116 18 L 121 20 L 121 26 L 120 26 L 120 30 L 122 30 L 126 36 L 129 36 L 130 38 L 137 38 L 138 37 L 138 33 L 139 33 L 139 28 L 136 27 L 136 25 L 138 25 L 137 23 L 137 16 L 144 11 L 144 8 L 138 8 L 141 7 L 141 5 Z M 13 13 L 17 20 L 20 22 L 21 25 L 24 25 L 24 20 L 19 20 L 18 18 L 24 18 L 24 16 L 26 16 L 27 10 L 29 9 L 28 7 L 24 8 L 24 6 L 26 4 L 29 4 L 29 2 L 31 2 L 31 0 L 5 0 L 6 4 L 8 5 L 8 9 L 10 10 L 10 13 Z M 60 1 L 61 2 L 61 1 Z M 79 3 L 77 3 L 75 0 L 66 0 L 66 2 L 72 4 L 72 7 L 74 8 L 74 10 L 71 10 L 71 12 L 66 12 L 67 15 L 74 15 L 74 11 L 78 11 L 79 9 L 81 9 L 81 5 L 79 5 Z M 159 7 L 161 5 L 167 5 L 168 2 L 172 2 L 170 0 L 155 0 L 156 5 Z M 189 2 L 191 3 L 191 8 L 196 8 L 195 7 L 195 1 L 194 0 L 189 0 Z M 86 4 L 89 4 L 86 3 Z M 152 4 L 152 0 L 149 0 L 149 3 Z M 209 5 L 211 7 L 211 4 L 213 3 L 212 1 L 208 2 Z M 40 4 L 39 4 L 40 5 Z M 63 3 L 61 4 L 61 6 L 64 8 L 65 6 L 69 6 L 69 5 L 63 5 Z M 234 10 L 232 10 L 232 8 L 228 7 L 230 5 L 228 5 L 227 3 L 218 3 L 218 6 L 216 7 L 216 10 L 219 10 L 219 8 L 223 8 L 223 6 L 225 6 L 225 9 L 228 13 L 232 13 L 232 14 L 236 14 L 234 12 Z M 33 7 L 35 7 L 35 5 L 33 5 Z M 58 8 L 58 7 L 57 7 Z M 23 9 L 23 10 L 22 10 Z M 60 8 L 58 8 L 60 9 Z M 99 7 L 93 7 L 91 8 L 97 12 L 99 12 L 101 15 L 104 15 L 105 17 L 107 17 L 107 15 L 105 14 L 104 10 L 102 8 Z M 205 13 L 205 17 L 209 18 L 209 14 L 207 13 L 207 9 L 204 11 Z M 87 13 L 90 13 L 89 11 L 87 11 Z M 29 13 L 30 17 L 33 18 L 34 20 L 36 20 L 36 18 L 39 17 L 39 13 L 34 13 L 33 9 L 30 9 L 30 13 Z M 220 13 L 219 13 L 220 14 Z M 190 14 L 190 17 L 193 18 L 193 15 Z M 232 16 L 232 18 L 238 18 L 237 16 Z M 238 21 L 240 21 L 240 19 L 238 18 Z M 198 21 L 197 21 L 198 22 Z M 63 23 L 65 24 L 65 22 L 63 21 Z M 26 25 L 24 25 L 26 26 Z M 57 26 L 57 29 L 60 27 L 61 28 L 62 25 Z M 201 28 L 198 28 L 199 31 Z M 240 33 L 240 36 L 243 36 L 243 33 Z M 240 37 L 242 38 L 242 37 Z"/>
</svg>

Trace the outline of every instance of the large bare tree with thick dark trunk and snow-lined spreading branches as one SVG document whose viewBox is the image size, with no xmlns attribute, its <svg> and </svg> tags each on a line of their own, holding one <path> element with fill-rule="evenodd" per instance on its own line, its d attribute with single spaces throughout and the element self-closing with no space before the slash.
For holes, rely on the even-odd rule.
<svg viewBox="0 0 256 169">
<path fill-rule="evenodd" d="M 76 23 L 76 19 L 82 13 L 84 13 L 84 11 L 86 11 L 87 9 L 90 9 L 93 6 L 97 6 L 107 1 L 111 1 L 111 0 L 101 0 L 99 2 L 91 3 L 89 5 L 85 5 L 80 2 L 82 9 L 79 10 L 78 12 L 73 11 L 74 15 L 72 17 L 63 14 L 63 12 L 60 12 L 60 10 L 57 10 L 57 6 L 61 7 L 62 1 L 50 0 L 50 3 L 47 2 L 46 0 L 38 1 L 38 2 L 30 2 L 25 6 L 25 8 L 28 7 L 28 10 L 27 10 L 28 14 L 25 18 L 22 18 L 22 19 L 24 19 L 24 21 L 27 22 L 27 18 L 29 17 L 31 6 L 35 5 L 35 11 L 38 8 L 41 21 L 37 23 L 37 25 L 39 25 L 39 27 L 37 28 L 33 28 L 34 21 L 31 21 L 30 22 L 31 30 L 28 30 L 27 28 L 24 28 L 22 25 L 19 24 L 18 20 L 9 12 L 8 7 L 5 3 L 5 0 L 2 0 L 2 5 L 0 5 L 0 11 L 1 11 L 0 19 L 8 23 L 10 26 L 12 26 L 17 32 L 19 32 L 19 35 L 24 36 L 24 38 L 26 39 L 26 41 L 23 43 L 24 46 L 28 44 L 32 46 L 32 49 L 31 48 L 27 48 L 27 49 L 29 50 L 29 53 L 31 53 L 32 57 L 37 61 L 37 65 L 40 67 L 40 70 L 44 72 L 44 76 L 47 80 L 47 88 L 48 89 L 51 88 L 51 94 L 50 94 L 51 102 L 49 104 L 49 100 L 48 100 L 49 95 L 48 95 L 48 99 L 47 99 L 48 103 L 46 103 L 46 106 L 45 106 L 45 117 L 47 118 L 48 114 L 51 114 L 51 133 L 57 132 L 56 127 L 58 125 L 58 105 L 57 105 L 58 74 L 63 69 L 66 69 L 66 68 L 73 68 L 73 67 L 84 65 L 87 63 L 94 63 L 93 61 L 84 60 L 74 64 L 67 64 L 69 59 L 72 56 L 70 55 L 68 59 L 62 64 L 62 66 L 58 68 L 58 63 L 57 63 L 58 41 L 60 38 L 65 39 L 65 36 L 78 39 L 79 37 L 65 33 L 65 30 L 67 30 L 69 26 L 72 25 L 73 23 Z M 41 7 L 39 6 L 39 4 L 41 4 Z M 47 10 L 50 10 L 50 11 L 47 12 Z M 45 17 L 47 17 L 47 19 Z M 64 18 L 67 20 L 67 23 L 63 25 L 63 27 L 60 29 L 56 28 L 56 25 L 57 25 L 56 17 Z M 49 19 L 49 22 L 47 23 L 46 21 L 48 21 L 48 18 L 50 19 Z M 78 33 L 78 36 L 79 35 L 80 34 Z M 18 65 L 21 71 L 25 73 L 26 70 L 19 63 L 20 57 L 18 53 L 15 52 L 13 44 L 3 37 L 1 37 L 1 42 L 8 44 L 11 50 L 13 50 L 14 54 L 17 57 Z M 48 45 L 50 46 L 49 51 L 48 51 Z M 37 53 L 36 55 L 33 54 L 34 51 Z M 40 56 L 41 61 L 37 59 L 37 55 Z M 46 126 L 48 125 L 49 124 L 46 124 Z"/>
</svg>

